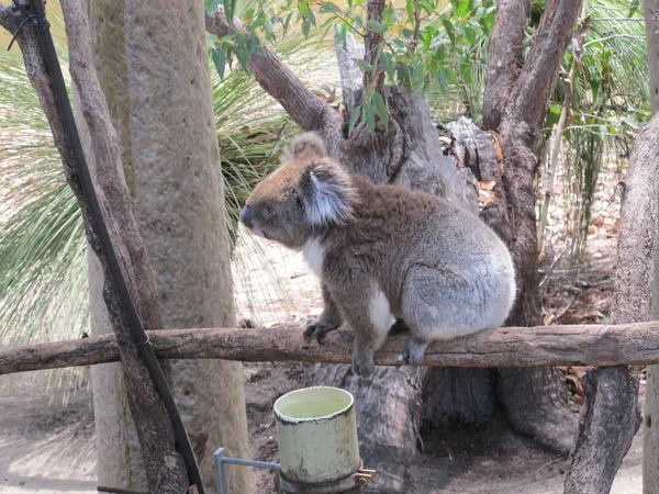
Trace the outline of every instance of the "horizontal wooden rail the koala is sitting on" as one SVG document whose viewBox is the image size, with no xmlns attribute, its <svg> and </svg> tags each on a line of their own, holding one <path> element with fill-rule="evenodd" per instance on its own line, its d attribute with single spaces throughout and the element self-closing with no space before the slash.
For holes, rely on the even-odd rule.
<svg viewBox="0 0 659 494">
<path fill-rule="evenodd" d="M 300 329 L 168 329 L 148 332 L 161 359 L 224 359 L 246 362 L 349 363 L 353 335 L 336 330 L 322 345 L 306 343 Z M 388 339 L 376 355 L 381 366 L 400 366 L 406 334 Z M 0 375 L 119 360 L 113 335 L 0 350 Z M 424 366 L 534 367 L 659 363 L 659 322 L 628 325 L 500 327 L 426 351 Z"/>
</svg>

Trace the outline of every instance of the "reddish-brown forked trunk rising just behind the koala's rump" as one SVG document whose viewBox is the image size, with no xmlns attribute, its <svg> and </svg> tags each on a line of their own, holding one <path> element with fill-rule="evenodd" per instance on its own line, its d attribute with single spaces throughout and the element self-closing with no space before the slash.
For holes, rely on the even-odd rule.
<svg viewBox="0 0 659 494">
<path fill-rule="evenodd" d="M 517 326 L 534 326 L 540 321 L 534 190 L 540 126 L 581 5 L 580 1 L 549 0 L 524 58 L 520 41 L 528 3 L 500 3 L 483 102 L 484 127 L 498 134 L 503 153 L 503 173 L 494 192 L 505 201 L 505 207 L 491 207 L 490 217 L 484 217 L 510 225 L 505 229 L 493 227 L 506 234 L 504 239 L 515 261 L 518 295 L 509 324 Z M 490 167 L 480 175 L 496 176 L 496 171 Z M 505 212 L 506 217 L 495 217 L 492 213 L 498 211 Z M 567 395 L 556 369 L 502 370 L 499 396 L 513 427 L 559 452 L 569 451 L 576 420 L 567 409 Z"/>
</svg>

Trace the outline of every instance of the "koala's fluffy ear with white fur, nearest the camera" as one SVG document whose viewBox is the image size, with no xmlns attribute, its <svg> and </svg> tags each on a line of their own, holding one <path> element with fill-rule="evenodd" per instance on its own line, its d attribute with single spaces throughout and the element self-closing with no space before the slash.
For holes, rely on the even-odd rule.
<svg viewBox="0 0 659 494">
<path fill-rule="evenodd" d="M 312 165 L 302 176 L 300 186 L 312 226 L 343 223 L 353 216 L 357 191 L 345 170 L 326 164 Z"/>
</svg>

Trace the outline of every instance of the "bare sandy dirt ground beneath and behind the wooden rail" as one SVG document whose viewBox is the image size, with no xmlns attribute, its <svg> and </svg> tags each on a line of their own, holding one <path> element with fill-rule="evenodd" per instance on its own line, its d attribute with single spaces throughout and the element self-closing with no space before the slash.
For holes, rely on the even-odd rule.
<svg viewBox="0 0 659 494">
<path fill-rule="evenodd" d="M 239 318 L 264 330 L 276 325 L 301 327 L 306 317 L 322 308 L 315 280 L 299 255 L 263 243 L 255 255 L 253 243 L 258 240 L 247 238 L 234 262 Z M 552 262 L 556 254 L 548 256 L 543 267 L 546 323 L 606 319 L 614 245 L 610 235 L 593 238 L 588 259 L 578 266 Z M 275 273 L 283 280 L 282 285 L 271 282 L 270 274 Z M 576 413 L 581 394 L 574 375 L 583 371 L 565 369 Z M 301 363 L 244 367 L 255 459 L 277 460 L 272 403 L 281 394 L 309 384 L 313 372 L 314 366 Z M 0 379 L 1 494 L 97 492 L 88 370 L 78 370 L 76 377 L 36 372 Z M 484 430 L 434 434 L 424 437 L 424 452 L 409 470 L 410 493 L 562 492 L 566 459 L 513 434 L 502 422 Z M 612 492 L 641 492 L 640 469 L 641 438 L 637 435 Z M 255 493 L 273 492 L 272 474 L 258 470 L 253 476 Z"/>
</svg>

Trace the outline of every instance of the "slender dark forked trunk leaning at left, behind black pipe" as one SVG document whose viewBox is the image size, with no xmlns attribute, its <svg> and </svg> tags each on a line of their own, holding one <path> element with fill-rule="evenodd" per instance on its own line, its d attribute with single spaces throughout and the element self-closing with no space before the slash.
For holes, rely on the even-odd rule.
<svg viewBox="0 0 659 494">
<path fill-rule="evenodd" d="M 40 2 L 31 3 L 34 13 L 41 14 L 38 9 L 43 5 Z M 170 417 L 164 406 L 163 393 L 167 393 L 167 384 L 159 386 L 159 392 L 156 390 L 153 373 L 143 358 L 153 356 L 150 347 L 141 345 L 135 350 L 126 345 L 135 343 L 139 336 L 133 334 L 135 326 L 129 323 L 131 317 L 133 321 L 139 319 L 137 325 L 146 329 L 161 326 L 156 283 L 130 204 L 119 138 L 110 122 L 109 109 L 93 69 L 91 36 L 82 3 L 67 0 L 62 7 L 69 47 L 69 70 L 83 117 L 77 124 L 89 127 L 90 146 L 86 153 L 77 142 L 78 125 L 71 122 L 71 109 L 59 66 L 56 63 L 46 64 L 46 53 L 51 61 L 56 56 L 49 42 L 47 22 L 38 23 L 37 32 L 33 24 L 24 25 L 21 11 L 0 5 L 0 24 L 18 34 L 26 72 L 48 120 L 67 182 L 82 211 L 87 239 L 101 261 L 107 314 L 114 338 L 122 343 L 118 349 L 127 403 L 137 426 L 149 491 L 180 493 L 188 489 L 189 479 L 183 459 L 176 448 Z M 19 27 L 23 25 L 21 31 Z M 43 43 L 38 43 L 37 38 Z M 87 167 L 85 158 L 89 158 Z M 120 295 L 120 290 L 125 296 Z M 129 306 L 126 299 L 131 302 Z M 158 363 L 153 363 L 152 371 L 159 371 Z"/>
</svg>

